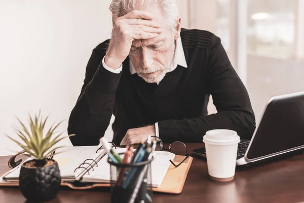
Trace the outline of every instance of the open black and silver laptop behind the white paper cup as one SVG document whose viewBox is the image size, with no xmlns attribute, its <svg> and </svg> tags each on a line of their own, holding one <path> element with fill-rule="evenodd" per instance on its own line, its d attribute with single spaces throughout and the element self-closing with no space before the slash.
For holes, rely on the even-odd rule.
<svg viewBox="0 0 304 203">
<path fill-rule="evenodd" d="M 193 150 L 206 159 L 205 148 Z M 304 92 L 272 97 L 251 140 L 241 140 L 237 166 L 250 166 L 304 152 Z"/>
</svg>

